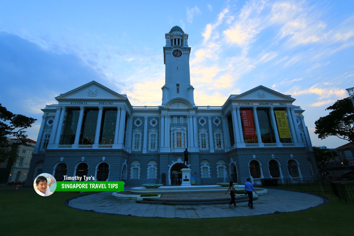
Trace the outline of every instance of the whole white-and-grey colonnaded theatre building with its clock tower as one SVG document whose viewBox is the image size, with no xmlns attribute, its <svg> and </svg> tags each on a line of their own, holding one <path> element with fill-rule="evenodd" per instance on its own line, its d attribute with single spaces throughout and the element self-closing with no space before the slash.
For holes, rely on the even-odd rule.
<svg viewBox="0 0 354 236">
<path fill-rule="evenodd" d="M 173 185 L 185 148 L 196 184 L 317 177 L 304 110 L 294 98 L 260 85 L 220 106 L 195 105 L 188 34 L 175 26 L 165 38 L 162 104 L 133 106 L 95 81 L 59 95 L 42 109 L 29 178 L 43 172 L 57 181 L 86 175 Z"/>
</svg>

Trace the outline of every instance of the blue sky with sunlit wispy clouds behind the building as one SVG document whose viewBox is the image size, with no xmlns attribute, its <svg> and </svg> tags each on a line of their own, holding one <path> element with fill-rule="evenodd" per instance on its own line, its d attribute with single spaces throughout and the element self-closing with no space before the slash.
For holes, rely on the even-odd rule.
<svg viewBox="0 0 354 236">
<path fill-rule="evenodd" d="M 54 97 L 92 80 L 132 105 L 161 105 L 165 33 L 189 34 L 196 105 L 258 85 L 296 98 L 314 122 L 354 87 L 354 1 L 0 0 L 0 103 L 38 121 Z"/>
</svg>

